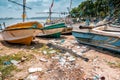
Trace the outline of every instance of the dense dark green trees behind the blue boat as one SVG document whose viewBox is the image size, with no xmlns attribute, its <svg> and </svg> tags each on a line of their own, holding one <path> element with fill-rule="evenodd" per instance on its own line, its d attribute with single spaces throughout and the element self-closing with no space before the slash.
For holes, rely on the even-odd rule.
<svg viewBox="0 0 120 80">
<path fill-rule="evenodd" d="M 113 13 L 112 13 L 113 11 Z M 72 17 L 101 17 L 114 14 L 119 15 L 119 0 L 86 0 L 71 11 Z"/>
</svg>

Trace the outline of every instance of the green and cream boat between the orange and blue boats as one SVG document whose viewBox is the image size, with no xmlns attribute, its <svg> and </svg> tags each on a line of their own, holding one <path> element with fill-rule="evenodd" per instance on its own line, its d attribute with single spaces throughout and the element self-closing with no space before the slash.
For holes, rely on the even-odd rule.
<svg viewBox="0 0 120 80">
<path fill-rule="evenodd" d="M 65 28 L 65 23 L 57 23 L 42 28 L 37 36 L 47 38 L 59 38 Z"/>
</svg>

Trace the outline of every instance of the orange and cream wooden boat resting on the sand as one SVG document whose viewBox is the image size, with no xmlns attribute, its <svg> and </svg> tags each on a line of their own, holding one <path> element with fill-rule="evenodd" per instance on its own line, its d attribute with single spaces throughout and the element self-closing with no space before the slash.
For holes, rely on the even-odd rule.
<svg viewBox="0 0 120 80">
<path fill-rule="evenodd" d="M 38 22 L 17 23 L 5 28 L 1 35 L 4 41 L 30 45 L 33 37 L 37 35 L 36 30 L 42 28 Z"/>
</svg>

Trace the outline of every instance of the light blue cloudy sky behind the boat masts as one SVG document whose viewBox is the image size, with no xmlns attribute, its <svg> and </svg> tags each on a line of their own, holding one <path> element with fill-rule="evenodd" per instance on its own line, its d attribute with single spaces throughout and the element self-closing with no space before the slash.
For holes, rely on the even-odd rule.
<svg viewBox="0 0 120 80">
<path fill-rule="evenodd" d="M 12 0 L 17 3 L 21 3 L 23 0 Z M 84 0 L 72 0 L 72 8 L 78 6 Z M 48 14 L 36 14 L 37 12 L 47 12 L 52 3 L 52 0 L 26 0 L 27 6 L 32 10 L 27 9 L 27 17 L 42 17 L 48 16 Z M 70 0 L 54 0 L 52 11 L 66 12 L 67 7 L 70 6 Z M 14 3 L 8 2 L 8 0 L 0 0 L 0 17 L 21 17 L 22 7 Z M 58 17 L 59 15 L 52 14 L 52 16 Z M 60 15 L 63 16 L 63 15 Z"/>
</svg>

